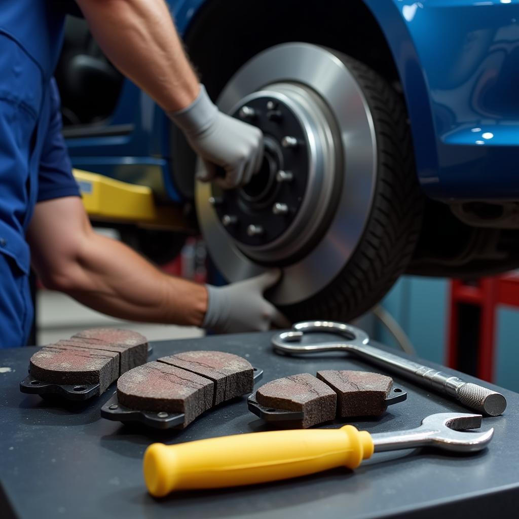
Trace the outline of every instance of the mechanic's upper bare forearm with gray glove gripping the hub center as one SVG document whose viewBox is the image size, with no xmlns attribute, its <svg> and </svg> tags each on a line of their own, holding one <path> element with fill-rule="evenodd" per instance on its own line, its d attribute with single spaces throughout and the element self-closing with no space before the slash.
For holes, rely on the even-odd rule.
<svg viewBox="0 0 519 519">
<path fill-rule="evenodd" d="M 247 184 L 263 158 L 262 132 L 222 114 L 190 66 L 164 0 L 76 0 L 112 63 L 168 113 L 224 188 Z"/>
</svg>

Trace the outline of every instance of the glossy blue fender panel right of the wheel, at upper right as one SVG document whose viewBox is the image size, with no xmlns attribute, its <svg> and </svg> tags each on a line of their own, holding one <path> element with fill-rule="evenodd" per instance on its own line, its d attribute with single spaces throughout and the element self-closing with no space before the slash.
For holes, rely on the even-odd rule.
<svg viewBox="0 0 519 519">
<path fill-rule="evenodd" d="M 519 197 L 519 2 L 364 1 L 401 76 L 425 192 Z"/>
</svg>

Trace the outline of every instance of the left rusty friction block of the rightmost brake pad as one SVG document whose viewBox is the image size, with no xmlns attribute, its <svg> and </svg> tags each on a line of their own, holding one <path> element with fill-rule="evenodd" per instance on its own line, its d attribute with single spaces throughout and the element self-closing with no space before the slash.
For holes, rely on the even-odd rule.
<svg viewBox="0 0 519 519">
<path fill-rule="evenodd" d="M 303 411 L 304 428 L 333 420 L 337 409 L 335 391 L 309 373 L 268 382 L 258 388 L 256 400 L 265 407 Z"/>
</svg>

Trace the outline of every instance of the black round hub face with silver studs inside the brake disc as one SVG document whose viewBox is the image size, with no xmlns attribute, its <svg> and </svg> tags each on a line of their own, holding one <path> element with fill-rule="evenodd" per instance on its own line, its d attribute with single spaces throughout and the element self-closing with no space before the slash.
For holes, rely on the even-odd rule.
<svg viewBox="0 0 519 519">
<path fill-rule="evenodd" d="M 305 131 L 288 104 L 262 93 L 245 99 L 233 115 L 263 131 L 264 158 L 242 188 L 213 186 L 213 199 L 220 202 L 215 210 L 240 246 L 268 246 L 290 227 L 304 199 L 309 171 Z M 284 145 L 283 139 L 297 145 Z"/>
</svg>

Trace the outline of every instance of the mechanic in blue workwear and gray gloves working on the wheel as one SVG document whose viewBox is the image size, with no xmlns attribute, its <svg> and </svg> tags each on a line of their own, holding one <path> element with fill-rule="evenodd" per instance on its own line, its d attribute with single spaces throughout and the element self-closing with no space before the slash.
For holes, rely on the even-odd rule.
<svg viewBox="0 0 519 519">
<path fill-rule="evenodd" d="M 72 0 L 70 0 L 72 2 Z M 224 188 L 260 167 L 262 133 L 216 108 L 190 66 L 163 0 L 77 0 L 112 63 L 184 132 Z M 218 332 L 288 324 L 263 297 L 278 271 L 225 287 L 162 274 L 126 245 L 95 234 L 61 136 L 52 79 L 67 2 L 0 9 L 0 346 L 22 346 L 33 320 L 32 265 L 49 289 L 112 316 Z"/>
</svg>

